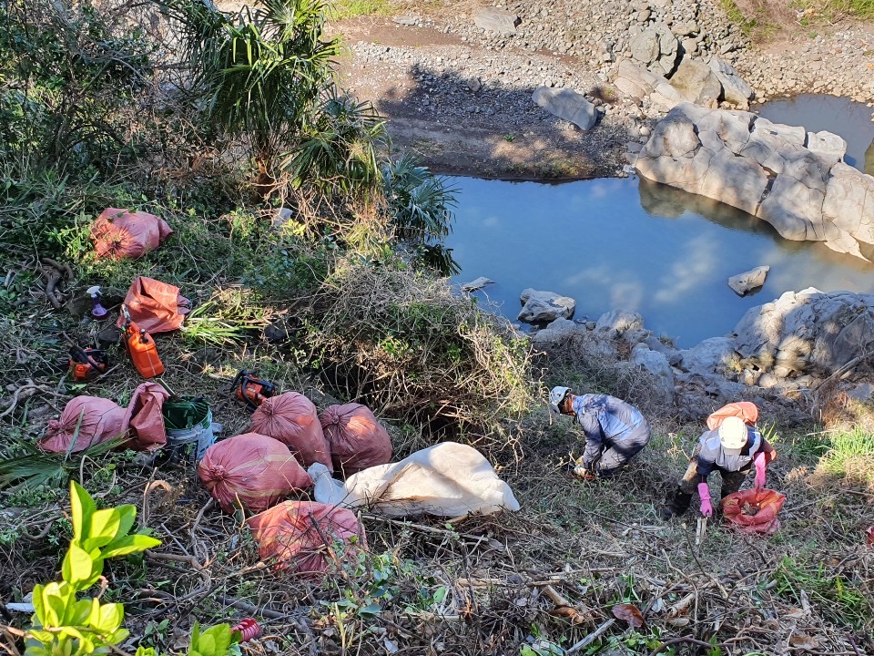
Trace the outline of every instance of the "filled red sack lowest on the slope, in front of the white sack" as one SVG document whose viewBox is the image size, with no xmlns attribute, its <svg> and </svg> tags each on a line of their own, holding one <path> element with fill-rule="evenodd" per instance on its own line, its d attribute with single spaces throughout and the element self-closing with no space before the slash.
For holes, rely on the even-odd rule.
<svg viewBox="0 0 874 656">
<path fill-rule="evenodd" d="M 351 510 L 316 501 L 285 501 L 249 518 L 258 554 L 276 571 L 319 578 L 336 559 L 354 560 L 367 548 Z M 328 544 L 325 544 L 325 541 Z"/>
</svg>

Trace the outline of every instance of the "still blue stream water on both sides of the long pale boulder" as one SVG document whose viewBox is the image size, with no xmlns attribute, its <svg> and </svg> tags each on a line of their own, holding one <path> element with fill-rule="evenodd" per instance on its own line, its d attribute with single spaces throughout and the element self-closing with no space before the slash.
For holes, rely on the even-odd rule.
<svg viewBox="0 0 874 656">
<path fill-rule="evenodd" d="M 760 114 L 840 134 L 848 163 L 864 169 L 870 111 L 813 96 L 768 103 Z M 857 112 L 866 123 L 850 120 Z M 748 308 L 789 290 L 874 292 L 872 263 L 784 240 L 745 212 L 647 180 L 451 183 L 458 208 L 446 245 L 462 267 L 453 282 L 491 278 L 476 293 L 512 320 L 520 292 L 533 287 L 573 297 L 576 319 L 635 310 L 647 328 L 688 347 L 730 332 Z M 761 264 L 771 270 L 760 291 L 740 297 L 728 287 L 729 276 Z"/>
</svg>

